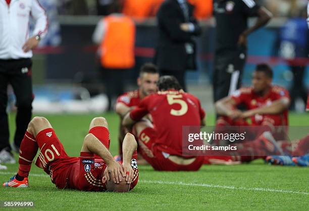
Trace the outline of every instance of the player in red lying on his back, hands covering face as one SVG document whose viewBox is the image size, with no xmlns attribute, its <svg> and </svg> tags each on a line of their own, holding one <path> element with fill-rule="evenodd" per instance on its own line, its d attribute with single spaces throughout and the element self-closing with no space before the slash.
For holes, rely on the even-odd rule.
<svg viewBox="0 0 309 211">
<path fill-rule="evenodd" d="M 138 180 L 136 140 L 132 134 L 125 136 L 122 166 L 114 160 L 109 146 L 108 123 L 97 117 L 90 123 L 80 156 L 70 157 L 48 120 L 35 117 L 21 143 L 18 173 L 3 186 L 28 187 L 29 171 L 39 148 L 35 165 L 44 169 L 60 189 L 128 192 Z"/>
</svg>

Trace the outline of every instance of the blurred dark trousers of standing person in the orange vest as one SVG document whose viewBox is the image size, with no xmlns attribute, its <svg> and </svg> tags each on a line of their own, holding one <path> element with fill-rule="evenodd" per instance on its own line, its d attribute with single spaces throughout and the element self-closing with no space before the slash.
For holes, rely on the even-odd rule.
<svg viewBox="0 0 309 211">
<path fill-rule="evenodd" d="M 109 98 L 109 111 L 113 110 L 113 102 L 116 101 L 116 98 L 124 93 L 125 79 L 128 71 L 128 69 L 100 68 L 106 94 Z"/>
</svg>

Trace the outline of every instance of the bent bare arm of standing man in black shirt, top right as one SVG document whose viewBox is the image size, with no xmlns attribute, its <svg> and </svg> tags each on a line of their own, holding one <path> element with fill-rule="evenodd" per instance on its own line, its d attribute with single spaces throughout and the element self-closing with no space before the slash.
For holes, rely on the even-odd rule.
<svg viewBox="0 0 309 211">
<path fill-rule="evenodd" d="M 248 15 L 250 15 L 250 9 L 247 9 Z M 254 11 L 252 9 L 252 11 Z M 252 12 L 253 13 L 253 12 Z M 254 14 L 252 14 L 254 15 Z M 249 34 L 251 34 L 253 31 L 261 28 L 262 26 L 265 26 L 273 17 L 273 14 L 268 11 L 265 7 L 260 7 L 257 11 L 258 20 L 255 22 L 255 24 L 252 27 L 249 27 L 245 31 L 241 33 L 239 36 L 238 44 L 239 45 L 246 45 L 246 38 Z"/>
</svg>

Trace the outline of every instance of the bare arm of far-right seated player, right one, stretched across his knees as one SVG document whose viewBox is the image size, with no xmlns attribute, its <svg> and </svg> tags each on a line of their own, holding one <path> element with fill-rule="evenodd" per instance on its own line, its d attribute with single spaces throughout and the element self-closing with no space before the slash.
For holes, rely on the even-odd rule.
<svg viewBox="0 0 309 211">
<path fill-rule="evenodd" d="M 287 110 L 290 106 L 290 99 L 288 97 L 282 97 L 273 101 L 270 105 L 265 105 L 263 107 L 252 109 L 246 111 L 242 114 L 243 118 L 254 116 L 255 114 L 265 115 L 265 114 L 281 114 Z"/>
</svg>

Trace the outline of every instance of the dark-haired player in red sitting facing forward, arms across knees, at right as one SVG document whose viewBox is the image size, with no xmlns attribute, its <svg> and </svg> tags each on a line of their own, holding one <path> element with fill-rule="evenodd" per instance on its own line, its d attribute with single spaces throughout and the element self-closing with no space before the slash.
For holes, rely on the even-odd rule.
<svg viewBox="0 0 309 211">
<path fill-rule="evenodd" d="M 256 139 L 244 144 L 243 149 L 238 151 L 242 154 L 281 153 L 273 136 L 277 140 L 286 139 L 282 131 L 288 125 L 290 97 L 286 89 L 272 85 L 272 79 L 272 69 L 266 64 L 260 64 L 253 72 L 251 87 L 241 88 L 232 96 L 216 102 L 217 112 L 221 115 L 216 124 L 218 130 L 220 126 L 263 126 L 246 131 L 254 134 Z M 237 109 L 240 104 L 245 106 L 246 111 Z M 247 122 L 248 118 L 251 123 Z M 269 149 L 266 146 L 270 146 Z M 264 156 L 242 156 L 241 161 L 250 162 L 261 157 Z"/>
</svg>

